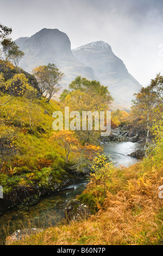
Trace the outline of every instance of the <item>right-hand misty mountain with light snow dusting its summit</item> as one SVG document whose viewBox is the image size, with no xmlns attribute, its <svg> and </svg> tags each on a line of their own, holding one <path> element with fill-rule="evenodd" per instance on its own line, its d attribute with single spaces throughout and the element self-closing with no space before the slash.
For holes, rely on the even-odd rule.
<svg viewBox="0 0 163 256">
<path fill-rule="evenodd" d="M 108 86 L 116 106 L 130 107 L 133 94 L 139 92 L 141 85 L 129 74 L 122 60 L 115 56 L 110 45 L 97 41 L 72 52 L 77 59 L 93 69 L 102 84 Z"/>
</svg>

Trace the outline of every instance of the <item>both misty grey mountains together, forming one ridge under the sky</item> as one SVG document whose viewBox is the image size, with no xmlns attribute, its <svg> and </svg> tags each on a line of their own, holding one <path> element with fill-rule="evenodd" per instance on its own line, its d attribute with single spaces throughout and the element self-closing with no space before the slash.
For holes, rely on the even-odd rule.
<svg viewBox="0 0 163 256">
<path fill-rule="evenodd" d="M 71 41 L 65 33 L 47 28 L 15 42 L 26 54 L 20 67 L 32 72 L 36 66 L 54 63 L 65 74 L 62 89 L 68 88 L 77 76 L 97 80 L 108 86 L 115 99 L 114 105 L 121 109 L 129 109 L 133 94 L 141 89 L 140 83 L 106 42 L 91 42 L 71 50 Z"/>
</svg>

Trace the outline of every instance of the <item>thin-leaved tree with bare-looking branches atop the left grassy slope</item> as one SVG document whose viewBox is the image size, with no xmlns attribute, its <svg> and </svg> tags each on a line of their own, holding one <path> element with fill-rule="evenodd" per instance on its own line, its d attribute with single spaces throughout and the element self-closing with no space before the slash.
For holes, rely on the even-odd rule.
<svg viewBox="0 0 163 256">
<path fill-rule="evenodd" d="M 47 66 L 39 66 L 33 70 L 37 82 L 39 83 L 42 94 L 45 93 L 47 102 L 51 100 L 53 95 L 60 89 L 59 82 L 64 74 L 62 74 L 55 64 L 48 64 Z"/>
</svg>

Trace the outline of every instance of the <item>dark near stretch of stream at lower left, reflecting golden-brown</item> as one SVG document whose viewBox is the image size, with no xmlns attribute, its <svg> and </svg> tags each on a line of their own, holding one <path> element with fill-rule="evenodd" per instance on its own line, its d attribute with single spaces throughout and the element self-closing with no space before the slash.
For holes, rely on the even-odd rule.
<svg viewBox="0 0 163 256">
<path fill-rule="evenodd" d="M 0 240 L 4 241 L 6 235 L 11 235 L 18 229 L 47 228 L 59 223 L 64 217 L 64 204 L 82 194 L 86 184 L 87 181 L 83 180 L 62 191 L 45 196 L 27 211 L 6 211 L 0 217 Z"/>
</svg>

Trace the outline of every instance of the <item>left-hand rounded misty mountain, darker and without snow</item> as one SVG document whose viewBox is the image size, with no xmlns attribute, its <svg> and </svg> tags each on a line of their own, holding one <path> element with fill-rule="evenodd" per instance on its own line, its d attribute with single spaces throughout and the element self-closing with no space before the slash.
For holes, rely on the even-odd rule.
<svg viewBox="0 0 163 256">
<path fill-rule="evenodd" d="M 70 39 L 58 29 L 43 28 L 30 38 L 18 38 L 15 42 L 25 53 L 20 67 L 28 72 L 36 66 L 54 63 L 65 74 L 62 87 L 68 87 L 77 76 L 95 80 L 92 68 L 73 56 Z"/>
</svg>

